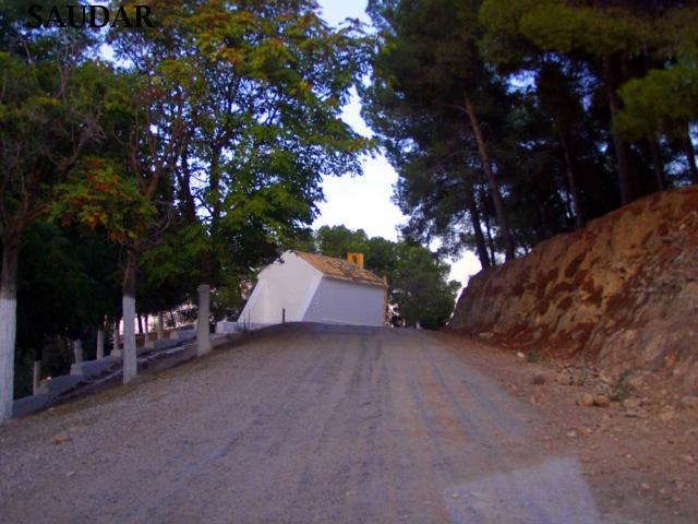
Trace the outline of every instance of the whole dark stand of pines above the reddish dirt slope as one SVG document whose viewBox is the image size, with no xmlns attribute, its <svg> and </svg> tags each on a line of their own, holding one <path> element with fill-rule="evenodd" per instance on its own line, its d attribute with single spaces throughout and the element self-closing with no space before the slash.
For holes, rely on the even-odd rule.
<svg viewBox="0 0 698 524">
<path fill-rule="evenodd" d="M 369 12 L 364 116 L 399 174 L 406 238 L 473 249 L 486 267 L 698 182 L 694 4 L 374 0 Z"/>
</svg>

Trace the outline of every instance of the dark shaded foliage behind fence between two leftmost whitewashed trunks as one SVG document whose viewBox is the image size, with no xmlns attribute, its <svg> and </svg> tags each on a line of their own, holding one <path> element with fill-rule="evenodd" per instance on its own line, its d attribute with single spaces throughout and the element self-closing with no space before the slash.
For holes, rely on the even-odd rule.
<svg viewBox="0 0 698 524">
<path fill-rule="evenodd" d="M 88 341 L 105 314 L 116 315 L 120 297 L 118 246 L 104 235 L 50 223 L 27 226 L 22 236 L 17 282 L 15 396 L 31 393 L 32 366 L 44 356 L 44 372 L 65 372 L 70 354 L 57 337 Z M 93 341 L 94 342 L 94 341 Z M 58 350 L 59 354 L 51 354 Z"/>
</svg>

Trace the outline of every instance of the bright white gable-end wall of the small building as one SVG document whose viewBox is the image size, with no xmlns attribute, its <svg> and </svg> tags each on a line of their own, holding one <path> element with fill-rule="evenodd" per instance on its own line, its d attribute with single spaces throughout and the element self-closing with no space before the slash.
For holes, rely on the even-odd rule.
<svg viewBox="0 0 698 524">
<path fill-rule="evenodd" d="M 303 313 L 312 300 L 322 273 L 296 253 L 282 254 L 258 275 L 248 303 L 238 322 L 244 324 L 280 324 L 286 309 L 287 322 L 303 320 Z"/>
</svg>

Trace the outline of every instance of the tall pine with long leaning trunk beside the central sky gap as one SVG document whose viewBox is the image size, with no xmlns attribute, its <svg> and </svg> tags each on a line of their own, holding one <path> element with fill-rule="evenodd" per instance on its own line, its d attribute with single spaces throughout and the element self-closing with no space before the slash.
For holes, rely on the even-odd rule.
<svg viewBox="0 0 698 524">
<path fill-rule="evenodd" d="M 384 141 L 393 140 L 388 146 L 409 150 L 411 136 L 396 136 L 392 120 L 419 121 L 424 112 L 456 111 L 464 120 L 464 140 L 474 145 L 504 251 L 512 259 L 515 242 L 502 198 L 503 165 L 492 156 L 493 130 L 482 119 L 501 90 L 479 56 L 479 7 L 474 0 L 371 2 L 370 12 L 382 31 L 373 83 L 364 91 L 364 115 Z"/>
</svg>

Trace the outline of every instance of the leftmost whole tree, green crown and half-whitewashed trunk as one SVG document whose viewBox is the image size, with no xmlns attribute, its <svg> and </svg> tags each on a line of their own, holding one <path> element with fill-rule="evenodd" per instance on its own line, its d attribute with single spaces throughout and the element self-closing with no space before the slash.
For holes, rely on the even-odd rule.
<svg viewBox="0 0 698 524">
<path fill-rule="evenodd" d="M 0 420 L 12 414 L 16 279 L 24 228 L 44 215 L 57 182 L 99 139 L 94 68 L 80 32 L 27 29 L 12 2 L 0 29 Z M 97 97 L 98 98 L 98 97 Z"/>
</svg>

